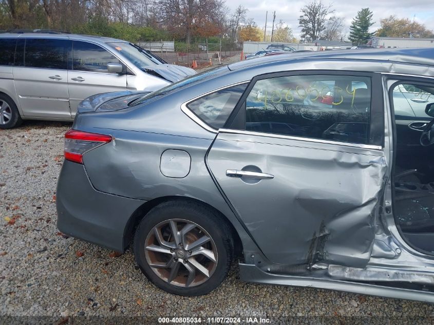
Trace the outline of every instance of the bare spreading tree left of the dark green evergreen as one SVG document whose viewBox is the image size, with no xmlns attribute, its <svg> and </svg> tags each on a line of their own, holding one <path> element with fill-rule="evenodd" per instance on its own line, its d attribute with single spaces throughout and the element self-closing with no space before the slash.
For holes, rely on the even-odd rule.
<svg viewBox="0 0 434 325">
<path fill-rule="evenodd" d="M 325 29 L 327 15 L 334 13 L 332 5 L 324 5 L 321 0 L 314 0 L 300 11 L 302 15 L 298 18 L 298 23 L 301 27 L 301 38 L 311 42 L 319 39 Z"/>
</svg>

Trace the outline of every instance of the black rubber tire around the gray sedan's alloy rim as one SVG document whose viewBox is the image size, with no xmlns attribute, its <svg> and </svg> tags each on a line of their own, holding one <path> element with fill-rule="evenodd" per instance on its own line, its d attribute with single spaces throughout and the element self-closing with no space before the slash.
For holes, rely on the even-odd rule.
<svg viewBox="0 0 434 325">
<path fill-rule="evenodd" d="M 148 264 L 145 255 L 145 243 L 148 235 L 152 236 L 154 227 L 157 225 L 174 218 L 177 220 L 187 220 L 199 225 L 209 234 L 213 244 L 215 244 L 213 247 L 217 251 L 218 258 L 214 273 L 201 284 L 186 287 L 168 283 L 160 278 L 153 271 L 155 269 Z M 228 275 L 233 258 L 233 246 L 230 227 L 213 209 L 196 202 L 177 200 L 162 203 L 146 214 L 136 229 L 133 250 L 136 262 L 143 274 L 160 289 L 181 296 L 200 296 L 217 288 Z M 171 258 L 169 257 L 168 259 Z"/>
</svg>

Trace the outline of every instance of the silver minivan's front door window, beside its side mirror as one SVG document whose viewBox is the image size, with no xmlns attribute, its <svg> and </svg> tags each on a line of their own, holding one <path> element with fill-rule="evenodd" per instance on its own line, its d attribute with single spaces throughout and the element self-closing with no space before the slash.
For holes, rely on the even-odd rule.
<svg viewBox="0 0 434 325">
<path fill-rule="evenodd" d="M 108 73 L 107 63 L 121 63 L 115 55 L 99 45 L 74 41 L 72 69 Z"/>
</svg>

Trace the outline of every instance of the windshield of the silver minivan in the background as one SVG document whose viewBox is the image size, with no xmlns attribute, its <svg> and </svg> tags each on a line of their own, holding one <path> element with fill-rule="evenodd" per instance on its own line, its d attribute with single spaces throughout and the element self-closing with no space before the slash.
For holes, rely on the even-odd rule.
<svg viewBox="0 0 434 325">
<path fill-rule="evenodd" d="M 129 59 L 136 67 L 144 70 L 145 67 L 154 67 L 163 62 L 149 51 L 127 42 L 107 43 L 108 46 L 117 50 Z"/>
</svg>

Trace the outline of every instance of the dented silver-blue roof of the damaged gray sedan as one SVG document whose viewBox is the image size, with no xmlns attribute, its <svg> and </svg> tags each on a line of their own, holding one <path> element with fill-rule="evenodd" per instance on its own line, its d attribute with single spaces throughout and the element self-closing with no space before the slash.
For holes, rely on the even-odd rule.
<svg viewBox="0 0 434 325">
<path fill-rule="evenodd" d="M 402 49 L 369 49 L 369 50 L 336 50 L 297 52 L 280 55 L 269 55 L 259 58 L 255 62 L 241 61 L 232 63 L 230 70 L 244 70 L 267 65 L 283 65 L 295 63 L 295 60 L 340 60 L 340 61 L 369 61 L 398 64 L 414 64 L 434 67 L 434 48 L 402 48 Z"/>
</svg>

